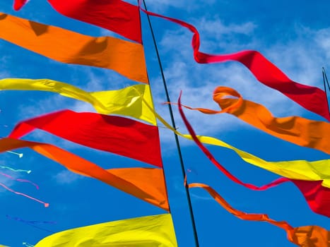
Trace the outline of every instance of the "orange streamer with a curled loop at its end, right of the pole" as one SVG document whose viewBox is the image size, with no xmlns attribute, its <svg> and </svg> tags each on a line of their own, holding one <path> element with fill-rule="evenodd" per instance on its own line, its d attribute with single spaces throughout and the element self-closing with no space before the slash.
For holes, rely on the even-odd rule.
<svg viewBox="0 0 330 247">
<path fill-rule="evenodd" d="M 238 99 L 232 97 L 237 97 Z M 213 100 L 219 104 L 222 111 L 187 108 L 196 109 L 205 114 L 223 112 L 232 114 L 277 138 L 330 154 L 330 123 L 328 122 L 313 121 L 300 116 L 276 118 L 263 105 L 243 100 L 237 91 L 228 87 L 220 86 L 216 88 L 213 92 Z"/>
</svg>

